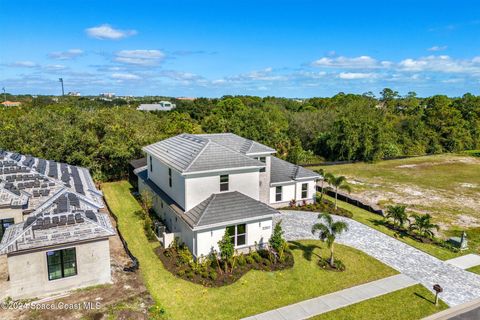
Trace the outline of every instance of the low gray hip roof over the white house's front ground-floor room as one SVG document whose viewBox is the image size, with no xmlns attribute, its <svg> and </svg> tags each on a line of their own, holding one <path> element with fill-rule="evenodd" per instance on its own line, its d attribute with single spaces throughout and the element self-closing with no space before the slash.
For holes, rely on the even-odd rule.
<svg viewBox="0 0 480 320">
<path fill-rule="evenodd" d="M 200 204 L 181 215 L 192 228 L 231 221 L 260 218 L 278 213 L 263 202 L 238 191 L 212 194 Z"/>
</svg>

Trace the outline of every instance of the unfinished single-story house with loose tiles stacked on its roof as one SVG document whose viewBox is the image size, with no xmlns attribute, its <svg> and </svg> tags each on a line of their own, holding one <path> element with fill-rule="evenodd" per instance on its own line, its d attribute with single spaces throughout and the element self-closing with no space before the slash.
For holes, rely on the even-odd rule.
<svg viewBox="0 0 480 320">
<path fill-rule="evenodd" d="M 0 299 L 111 282 L 114 235 L 87 169 L 0 150 Z"/>
</svg>

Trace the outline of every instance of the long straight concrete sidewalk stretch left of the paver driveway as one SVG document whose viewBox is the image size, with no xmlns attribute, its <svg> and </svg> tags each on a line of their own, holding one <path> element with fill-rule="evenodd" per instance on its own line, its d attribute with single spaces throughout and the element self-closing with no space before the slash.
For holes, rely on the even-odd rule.
<svg viewBox="0 0 480 320">
<path fill-rule="evenodd" d="M 417 281 L 406 275 L 398 274 L 310 300 L 301 301 L 279 309 L 260 313 L 255 316 L 244 318 L 244 320 L 308 319 L 318 314 L 407 288 L 417 283 Z"/>
</svg>

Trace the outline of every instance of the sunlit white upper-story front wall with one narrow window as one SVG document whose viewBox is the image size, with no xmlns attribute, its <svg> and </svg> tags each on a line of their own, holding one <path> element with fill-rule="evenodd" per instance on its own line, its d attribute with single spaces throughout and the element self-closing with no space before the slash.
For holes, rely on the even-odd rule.
<svg viewBox="0 0 480 320">
<path fill-rule="evenodd" d="M 192 209 L 213 193 L 219 193 L 220 175 L 223 174 L 229 175 L 228 191 L 239 191 L 255 200 L 259 200 L 258 169 L 187 176 L 185 179 L 185 211 Z"/>
</svg>

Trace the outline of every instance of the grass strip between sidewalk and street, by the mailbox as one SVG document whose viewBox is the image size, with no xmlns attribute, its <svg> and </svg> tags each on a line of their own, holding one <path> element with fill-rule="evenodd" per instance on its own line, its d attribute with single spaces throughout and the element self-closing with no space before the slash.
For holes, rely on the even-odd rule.
<svg viewBox="0 0 480 320">
<path fill-rule="evenodd" d="M 433 303 L 435 296 L 418 284 L 377 298 L 330 311 L 311 320 L 415 320 L 422 319 L 447 308 L 440 301 Z"/>
</svg>

